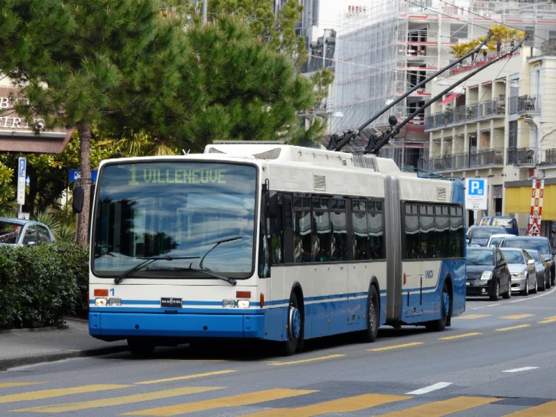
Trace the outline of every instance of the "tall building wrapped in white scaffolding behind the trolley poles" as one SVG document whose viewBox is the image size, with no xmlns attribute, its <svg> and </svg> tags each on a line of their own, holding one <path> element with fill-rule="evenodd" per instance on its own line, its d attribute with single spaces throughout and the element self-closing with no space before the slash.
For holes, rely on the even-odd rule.
<svg viewBox="0 0 556 417">
<path fill-rule="evenodd" d="M 448 65 L 451 45 L 485 35 L 496 24 L 527 31 L 530 46 L 555 41 L 556 1 L 368 0 L 347 6 L 336 35 L 334 93 L 328 109 L 334 115 L 332 133 L 359 128 L 390 101 Z M 425 85 L 373 126 L 387 126 L 391 114 L 403 120 L 430 98 Z M 382 149 L 382 156 L 394 158 L 400 166 L 417 166 L 419 158 L 428 156 L 424 122 L 425 111 Z"/>
</svg>

